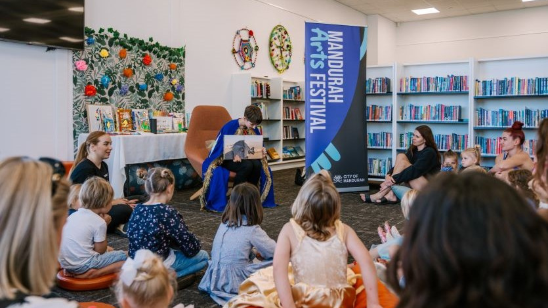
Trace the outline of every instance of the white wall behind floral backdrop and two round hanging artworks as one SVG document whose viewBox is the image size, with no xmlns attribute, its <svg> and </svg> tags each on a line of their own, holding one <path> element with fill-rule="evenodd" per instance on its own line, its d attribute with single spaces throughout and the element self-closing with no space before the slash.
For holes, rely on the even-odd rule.
<svg viewBox="0 0 548 308">
<path fill-rule="evenodd" d="M 230 80 L 240 70 L 232 54 L 236 30 L 248 27 L 260 47 L 253 75 L 277 76 L 266 53 L 270 31 L 288 29 L 293 42 L 283 77 L 304 79 L 304 22 L 366 25 L 366 15 L 332 0 L 93 0 L 85 25 L 113 27 L 129 36 L 186 45 L 186 109 L 227 105 Z M 67 50 L 0 42 L 0 158 L 53 156 L 72 160 L 72 59 Z M 9 114 L 8 111 L 9 110 Z"/>
</svg>

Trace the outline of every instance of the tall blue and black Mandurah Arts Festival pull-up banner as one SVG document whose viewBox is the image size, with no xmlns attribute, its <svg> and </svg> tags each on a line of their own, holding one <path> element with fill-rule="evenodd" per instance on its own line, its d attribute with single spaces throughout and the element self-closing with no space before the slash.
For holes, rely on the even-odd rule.
<svg viewBox="0 0 548 308">
<path fill-rule="evenodd" d="M 305 25 L 306 173 L 328 170 L 340 192 L 368 190 L 367 27 Z"/>
</svg>

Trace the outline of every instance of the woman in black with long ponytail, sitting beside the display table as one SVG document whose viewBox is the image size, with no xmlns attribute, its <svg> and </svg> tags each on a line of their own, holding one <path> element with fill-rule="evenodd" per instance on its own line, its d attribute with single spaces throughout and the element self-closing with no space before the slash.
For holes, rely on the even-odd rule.
<svg viewBox="0 0 548 308">
<path fill-rule="evenodd" d="M 109 134 L 105 132 L 89 134 L 85 142 L 80 145 L 74 165 L 70 170 L 69 176 L 72 184 L 83 184 L 86 179 L 92 176 L 100 176 L 109 181 L 109 167 L 103 160 L 110 157 L 111 151 L 112 140 Z M 118 226 L 122 226 L 119 229 L 121 233 L 125 233 L 123 225 L 129 221 L 137 201 L 139 200 L 125 198 L 112 201 L 112 209 L 109 212 L 112 221 L 107 226 L 107 232 L 115 232 Z"/>
</svg>

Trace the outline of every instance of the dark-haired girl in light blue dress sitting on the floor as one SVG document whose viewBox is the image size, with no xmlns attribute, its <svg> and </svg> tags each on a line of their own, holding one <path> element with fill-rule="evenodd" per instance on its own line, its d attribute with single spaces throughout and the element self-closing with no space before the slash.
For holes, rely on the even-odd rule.
<svg viewBox="0 0 548 308">
<path fill-rule="evenodd" d="M 261 229 L 262 206 L 255 185 L 235 186 L 213 239 L 211 260 L 198 289 L 219 305 L 238 294 L 239 285 L 256 270 L 272 265 L 276 241 Z M 262 259 L 254 263 L 254 259 Z"/>
</svg>

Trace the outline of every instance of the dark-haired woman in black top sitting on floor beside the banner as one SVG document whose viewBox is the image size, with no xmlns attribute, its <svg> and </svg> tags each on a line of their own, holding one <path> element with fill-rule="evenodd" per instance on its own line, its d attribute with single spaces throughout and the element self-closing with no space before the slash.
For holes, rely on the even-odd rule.
<svg viewBox="0 0 548 308">
<path fill-rule="evenodd" d="M 397 202 L 408 189 L 394 184 L 407 183 L 412 189 L 421 190 L 428 183 L 427 178 L 436 174 L 441 168 L 439 155 L 432 130 L 426 125 L 415 128 L 413 143 L 405 154 L 399 153 L 394 167 L 386 173 L 380 191 L 367 196 L 361 193 L 363 202 Z"/>
</svg>

